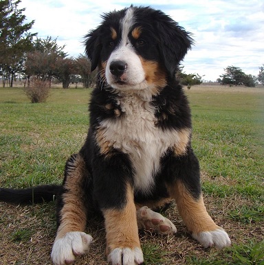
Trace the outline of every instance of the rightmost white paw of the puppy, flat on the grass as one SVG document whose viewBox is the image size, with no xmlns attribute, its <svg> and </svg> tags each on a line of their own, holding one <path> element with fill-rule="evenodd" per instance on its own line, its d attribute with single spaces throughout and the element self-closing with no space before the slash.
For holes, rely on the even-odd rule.
<svg viewBox="0 0 264 265">
<path fill-rule="evenodd" d="M 222 229 L 192 233 L 192 238 L 195 238 L 206 248 L 215 246 L 217 249 L 221 249 L 231 244 L 228 234 Z"/>
</svg>

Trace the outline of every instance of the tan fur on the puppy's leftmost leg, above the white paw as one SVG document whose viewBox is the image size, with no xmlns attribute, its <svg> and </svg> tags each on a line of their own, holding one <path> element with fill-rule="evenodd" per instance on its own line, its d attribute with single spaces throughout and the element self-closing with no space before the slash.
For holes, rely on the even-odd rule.
<svg viewBox="0 0 264 265">
<path fill-rule="evenodd" d="M 65 189 L 68 191 L 63 194 L 63 208 L 60 211 L 61 224 L 58 227 L 56 240 L 62 238 L 66 233 L 72 231 L 85 231 L 87 221 L 87 209 L 80 200 L 83 194 L 81 187 L 83 175 L 85 174 L 85 161 L 77 155 L 74 165 L 68 168 Z"/>
</svg>

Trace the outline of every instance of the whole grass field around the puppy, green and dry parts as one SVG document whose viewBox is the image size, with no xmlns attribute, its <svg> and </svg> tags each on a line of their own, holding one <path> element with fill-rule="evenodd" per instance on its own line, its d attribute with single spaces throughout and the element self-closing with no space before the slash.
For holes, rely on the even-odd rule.
<svg viewBox="0 0 264 265">
<path fill-rule="evenodd" d="M 0 187 L 61 183 L 66 159 L 85 140 L 89 93 L 52 89 L 46 103 L 31 104 L 22 89 L 0 88 Z M 206 206 L 232 246 L 203 249 L 172 207 L 164 215 L 176 235 L 140 235 L 145 264 L 264 264 L 264 89 L 198 86 L 186 94 Z M 54 202 L 0 203 L 0 264 L 51 264 L 55 233 Z M 102 220 L 91 218 L 87 233 L 94 244 L 76 264 L 107 264 Z"/>
</svg>

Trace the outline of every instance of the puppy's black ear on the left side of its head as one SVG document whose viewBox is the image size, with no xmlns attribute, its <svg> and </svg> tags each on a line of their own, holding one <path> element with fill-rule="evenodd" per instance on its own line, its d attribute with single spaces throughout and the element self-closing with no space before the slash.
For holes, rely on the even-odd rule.
<svg viewBox="0 0 264 265">
<path fill-rule="evenodd" d="M 98 66 L 100 60 L 100 51 L 102 49 L 102 44 L 100 43 L 100 28 L 92 30 L 89 32 L 85 38 L 85 53 L 91 60 L 91 71 L 94 71 Z"/>
</svg>

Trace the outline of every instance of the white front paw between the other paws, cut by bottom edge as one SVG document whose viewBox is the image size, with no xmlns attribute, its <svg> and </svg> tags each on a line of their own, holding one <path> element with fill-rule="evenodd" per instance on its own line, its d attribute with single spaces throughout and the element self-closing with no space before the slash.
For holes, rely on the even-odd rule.
<svg viewBox="0 0 264 265">
<path fill-rule="evenodd" d="M 135 265 L 144 262 L 143 253 L 140 248 L 117 248 L 113 249 L 107 258 L 113 265 Z"/>
</svg>

